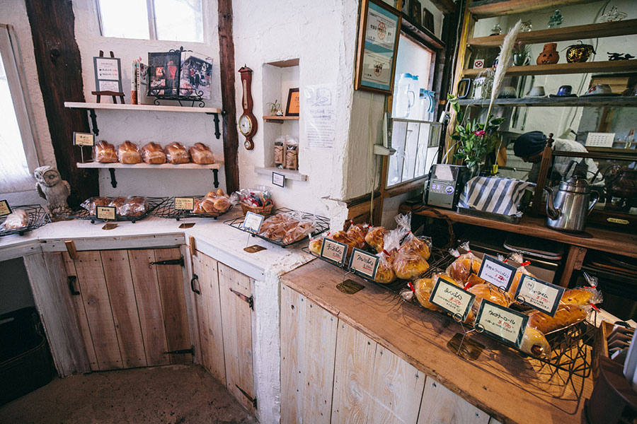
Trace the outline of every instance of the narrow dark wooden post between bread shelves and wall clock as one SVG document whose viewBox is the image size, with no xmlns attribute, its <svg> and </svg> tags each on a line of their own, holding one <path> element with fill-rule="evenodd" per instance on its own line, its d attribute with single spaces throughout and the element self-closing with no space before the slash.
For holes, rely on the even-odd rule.
<svg viewBox="0 0 637 424">
<path fill-rule="evenodd" d="M 222 83 L 224 110 L 224 168 L 226 192 L 239 190 L 239 133 L 236 129 L 236 101 L 234 93 L 234 40 L 232 39 L 232 0 L 219 0 L 219 73 Z"/>
</svg>

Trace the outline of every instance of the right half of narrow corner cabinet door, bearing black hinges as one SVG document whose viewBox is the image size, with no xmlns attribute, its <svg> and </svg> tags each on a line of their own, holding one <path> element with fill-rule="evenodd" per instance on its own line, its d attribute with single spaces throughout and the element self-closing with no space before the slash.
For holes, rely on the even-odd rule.
<svg viewBox="0 0 637 424">
<path fill-rule="evenodd" d="M 244 300 L 251 297 L 251 280 L 248 276 L 220 262 L 218 267 L 226 387 L 239 400 L 239 403 L 254 413 L 252 310 L 248 302 Z"/>
</svg>

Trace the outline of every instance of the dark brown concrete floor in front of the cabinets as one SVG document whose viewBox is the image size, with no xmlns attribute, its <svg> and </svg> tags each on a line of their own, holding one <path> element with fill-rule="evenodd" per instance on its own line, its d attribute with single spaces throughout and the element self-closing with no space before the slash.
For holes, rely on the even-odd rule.
<svg viewBox="0 0 637 424">
<path fill-rule="evenodd" d="M 1 406 L 0 423 L 252 424 L 257 420 L 202 367 L 168 365 L 56 378 Z"/>
</svg>

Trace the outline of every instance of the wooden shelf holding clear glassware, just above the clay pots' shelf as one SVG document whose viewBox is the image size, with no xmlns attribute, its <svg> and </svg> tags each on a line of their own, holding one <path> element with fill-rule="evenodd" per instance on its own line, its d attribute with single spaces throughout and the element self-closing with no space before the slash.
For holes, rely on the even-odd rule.
<svg viewBox="0 0 637 424">
<path fill-rule="evenodd" d="M 530 31 L 529 33 L 518 34 L 517 41 L 528 45 L 587 38 L 619 37 L 621 35 L 633 34 L 637 34 L 637 19 L 561 27 L 553 30 Z M 466 44 L 480 47 L 500 47 L 505 35 L 506 34 L 469 38 Z"/>
</svg>

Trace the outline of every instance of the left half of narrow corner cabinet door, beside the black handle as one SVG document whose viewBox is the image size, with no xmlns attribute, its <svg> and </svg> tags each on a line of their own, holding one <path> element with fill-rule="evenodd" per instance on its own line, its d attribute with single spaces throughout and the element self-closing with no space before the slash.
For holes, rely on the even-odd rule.
<svg viewBox="0 0 637 424">
<path fill-rule="evenodd" d="M 210 374 L 226 384 L 224 338 L 221 304 L 219 302 L 219 276 L 217 261 L 197 252 L 193 257 L 195 314 L 200 339 L 200 363 Z"/>
</svg>

